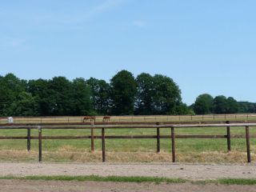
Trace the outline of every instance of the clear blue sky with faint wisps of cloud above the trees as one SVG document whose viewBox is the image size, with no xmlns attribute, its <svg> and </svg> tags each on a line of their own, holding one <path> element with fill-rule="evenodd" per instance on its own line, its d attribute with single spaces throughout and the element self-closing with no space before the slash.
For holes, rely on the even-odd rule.
<svg viewBox="0 0 256 192">
<path fill-rule="evenodd" d="M 198 94 L 256 102 L 254 0 L 0 2 L 0 75 L 164 74 Z"/>
</svg>

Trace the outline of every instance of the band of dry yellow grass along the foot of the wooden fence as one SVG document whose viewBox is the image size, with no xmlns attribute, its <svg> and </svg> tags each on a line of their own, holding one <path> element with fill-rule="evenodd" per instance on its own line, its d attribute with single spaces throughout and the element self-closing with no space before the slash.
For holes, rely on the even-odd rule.
<svg viewBox="0 0 256 192">
<path fill-rule="evenodd" d="M 201 153 L 178 153 L 177 162 L 215 162 L 215 163 L 244 163 L 246 153 L 232 151 L 222 153 L 209 151 Z M 0 160 L 13 162 L 37 162 L 38 152 L 26 150 L 0 150 Z M 82 151 L 63 147 L 55 152 L 44 151 L 44 162 L 102 162 L 102 151 Z M 256 162 L 256 154 L 251 154 L 252 162 Z M 106 152 L 106 162 L 172 162 L 170 153 L 161 152 Z"/>
</svg>

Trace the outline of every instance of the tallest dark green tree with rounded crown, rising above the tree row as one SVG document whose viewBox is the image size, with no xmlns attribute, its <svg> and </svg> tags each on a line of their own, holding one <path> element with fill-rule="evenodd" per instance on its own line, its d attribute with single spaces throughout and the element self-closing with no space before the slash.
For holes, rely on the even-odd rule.
<svg viewBox="0 0 256 192">
<path fill-rule="evenodd" d="M 137 83 L 133 74 L 121 70 L 110 80 L 113 114 L 134 114 Z"/>
</svg>

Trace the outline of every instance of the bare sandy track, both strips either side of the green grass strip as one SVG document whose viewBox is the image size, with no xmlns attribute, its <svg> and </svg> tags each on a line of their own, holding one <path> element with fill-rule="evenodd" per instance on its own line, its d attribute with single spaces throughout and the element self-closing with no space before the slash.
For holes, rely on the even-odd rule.
<svg viewBox="0 0 256 192">
<path fill-rule="evenodd" d="M 173 163 L 0 163 L 0 176 L 29 175 L 117 175 L 117 176 L 154 176 L 166 178 L 186 178 L 205 180 L 216 178 L 256 178 L 254 165 L 197 165 Z M 0 191 L 255 191 L 256 186 L 195 185 L 182 184 L 155 185 L 154 183 L 126 182 L 62 182 L 0 180 Z"/>
</svg>

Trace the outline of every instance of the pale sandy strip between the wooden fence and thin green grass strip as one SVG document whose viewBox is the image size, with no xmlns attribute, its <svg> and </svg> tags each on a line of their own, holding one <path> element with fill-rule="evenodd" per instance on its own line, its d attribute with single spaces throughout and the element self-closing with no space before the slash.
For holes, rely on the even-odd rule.
<svg viewBox="0 0 256 192">
<path fill-rule="evenodd" d="M 0 176 L 92 174 L 186 178 L 190 180 L 256 178 L 256 166 L 180 163 L 0 163 Z"/>
</svg>

